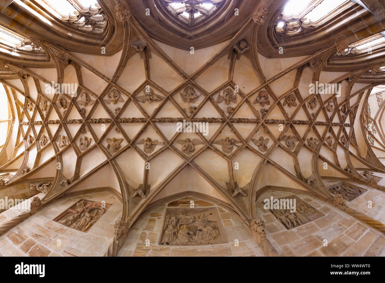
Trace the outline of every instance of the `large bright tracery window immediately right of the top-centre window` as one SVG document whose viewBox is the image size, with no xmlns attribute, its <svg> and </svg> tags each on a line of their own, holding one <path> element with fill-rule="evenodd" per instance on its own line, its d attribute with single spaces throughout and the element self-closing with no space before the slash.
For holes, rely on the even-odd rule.
<svg viewBox="0 0 385 283">
<path fill-rule="evenodd" d="M 289 0 L 276 21 L 276 31 L 285 35 L 318 27 L 354 2 L 349 0 Z"/>
</svg>

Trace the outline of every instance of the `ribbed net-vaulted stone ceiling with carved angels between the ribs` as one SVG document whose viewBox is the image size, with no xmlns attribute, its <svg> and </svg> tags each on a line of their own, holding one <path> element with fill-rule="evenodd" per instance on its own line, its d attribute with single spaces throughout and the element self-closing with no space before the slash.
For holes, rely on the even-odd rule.
<svg viewBox="0 0 385 283">
<path fill-rule="evenodd" d="M 110 188 L 132 224 L 195 191 L 249 221 L 266 188 L 332 199 L 323 180 L 385 172 L 385 47 L 338 54 L 384 31 L 381 10 L 345 3 L 338 20 L 289 36 L 275 29 L 283 0 L 224 1 L 199 27 L 179 26 L 160 2 L 99 0 L 98 33 L 43 20 L 26 8 L 39 1 L 0 2 L 1 27 L 33 49 L 0 50 L 12 112 L 0 172 L 13 174 L 0 194 L 39 180 L 52 181 L 43 202 Z M 310 93 L 316 82 L 340 95 Z M 207 135 L 178 132 L 183 120 L 208 122 Z"/>
</svg>

